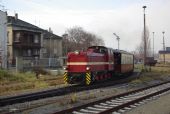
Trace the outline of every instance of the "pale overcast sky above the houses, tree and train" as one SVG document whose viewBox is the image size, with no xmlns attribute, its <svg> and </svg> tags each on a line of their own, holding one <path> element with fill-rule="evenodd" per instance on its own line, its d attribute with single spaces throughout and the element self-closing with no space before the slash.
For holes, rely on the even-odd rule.
<svg viewBox="0 0 170 114">
<path fill-rule="evenodd" d="M 143 30 L 143 5 L 146 5 L 146 25 L 155 32 L 155 50 L 162 49 L 162 31 L 170 47 L 170 0 L 0 0 L 9 15 L 43 29 L 52 28 L 57 35 L 66 29 L 80 26 L 103 38 L 105 45 L 133 51 L 141 41 Z"/>
</svg>

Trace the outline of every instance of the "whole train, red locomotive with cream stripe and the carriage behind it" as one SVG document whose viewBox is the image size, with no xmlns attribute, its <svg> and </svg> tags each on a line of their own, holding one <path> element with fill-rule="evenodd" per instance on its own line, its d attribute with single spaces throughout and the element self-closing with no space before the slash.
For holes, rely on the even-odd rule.
<svg viewBox="0 0 170 114">
<path fill-rule="evenodd" d="M 104 46 L 92 46 L 87 51 L 68 53 L 64 82 L 89 85 L 98 80 L 133 72 L 133 69 L 133 54 Z"/>
</svg>

